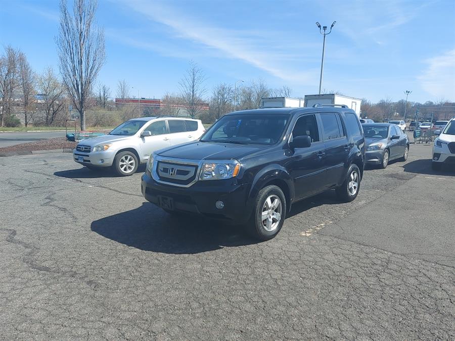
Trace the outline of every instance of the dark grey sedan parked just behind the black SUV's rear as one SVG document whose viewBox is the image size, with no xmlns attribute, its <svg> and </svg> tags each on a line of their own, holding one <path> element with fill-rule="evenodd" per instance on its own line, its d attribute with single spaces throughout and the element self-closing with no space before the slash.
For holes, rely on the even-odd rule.
<svg viewBox="0 0 455 341">
<path fill-rule="evenodd" d="M 409 140 L 396 125 L 390 123 L 362 124 L 367 151 L 367 164 L 386 168 L 392 160 L 407 160 Z"/>
</svg>

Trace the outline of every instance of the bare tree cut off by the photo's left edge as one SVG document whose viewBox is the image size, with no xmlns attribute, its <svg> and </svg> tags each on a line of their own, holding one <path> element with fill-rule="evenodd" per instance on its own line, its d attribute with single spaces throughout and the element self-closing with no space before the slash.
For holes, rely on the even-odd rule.
<svg viewBox="0 0 455 341">
<path fill-rule="evenodd" d="M 11 46 L 5 47 L 5 54 L 0 57 L 0 98 L 2 100 L 0 126 L 2 127 L 5 124 L 5 116 L 11 115 L 14 92 L 19 86 L 17 63 L 18 51 Z"/>
</svg>

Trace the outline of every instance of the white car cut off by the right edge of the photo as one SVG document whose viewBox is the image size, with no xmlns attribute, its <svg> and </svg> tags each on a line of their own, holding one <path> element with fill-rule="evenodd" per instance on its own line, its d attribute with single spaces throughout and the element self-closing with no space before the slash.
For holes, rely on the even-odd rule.
<svg viewBox="0 0 455 341">
<path fill-rule="evenodd" d="M 455 118 L 452 118 L 442 131 L 435 131 L 439 136 L 433 144 L 433 169 L 442 165 L 451 165 L 455 169 Z"/>
</svg>

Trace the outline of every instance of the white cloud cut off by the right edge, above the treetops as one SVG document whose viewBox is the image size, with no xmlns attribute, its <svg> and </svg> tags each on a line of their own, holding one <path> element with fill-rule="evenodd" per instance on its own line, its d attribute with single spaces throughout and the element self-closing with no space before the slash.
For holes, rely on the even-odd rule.
<svg viewBox="0 0 455 341">
<path fill-rule="evenodd" d="M 426 70 L 417 77 L 422 88 L 435 98 L 455 100 L 455 48 L 425 63 Z"/>
</svg>

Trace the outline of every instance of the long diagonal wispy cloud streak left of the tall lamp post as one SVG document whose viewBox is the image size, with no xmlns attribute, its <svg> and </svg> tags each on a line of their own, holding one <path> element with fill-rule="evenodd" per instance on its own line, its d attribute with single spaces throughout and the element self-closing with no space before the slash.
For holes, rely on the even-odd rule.
<svg viewBox="0 0 455 341">
<path fill-rule="evenodd" d="M 226 58 L 242 60 L 282 80 L 307 84 L 314 80 L 317 73 L 315 70 L 298 72 L 295 68 L 287 67 L 286 62 L 298 60 L 298 55 L 283 54 L 282 48 L 270 48 L 273 43 L 265 40 L 264 32 L 223 29 L 161 3 L 128 1 L 124 4 L 148 19 L 165 25 L 176 38 L 214 49 Z M 301 58 L 305 56 L 301 55 Z"/>
</svg>

